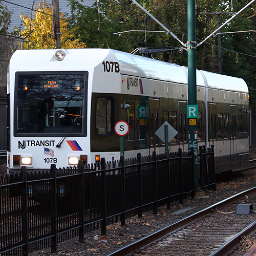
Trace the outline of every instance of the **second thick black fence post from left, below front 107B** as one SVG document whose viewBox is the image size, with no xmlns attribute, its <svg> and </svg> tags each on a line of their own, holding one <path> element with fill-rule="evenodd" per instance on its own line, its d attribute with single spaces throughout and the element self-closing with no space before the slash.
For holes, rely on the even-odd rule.
<svg viewBox="0 0 256 256">
<path fill-rule="evenodd" d="M 52 253 L 57 251 L 57 191 L 56 191 L 56 164 L 51 164 L 51 226 L 52 226 Z"/>
</svg>

